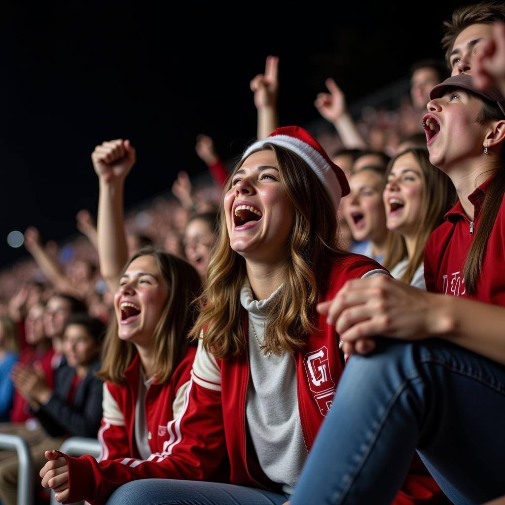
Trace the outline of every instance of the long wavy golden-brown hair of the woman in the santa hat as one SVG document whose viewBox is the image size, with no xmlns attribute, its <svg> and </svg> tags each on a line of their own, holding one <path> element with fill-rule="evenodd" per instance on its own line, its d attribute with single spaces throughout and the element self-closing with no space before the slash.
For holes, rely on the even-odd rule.
<svg viewBox="0 0 505 505">
<path fill-rule="evenodd" d="M 265 354 L 280 355 L 302 347 L 306 335 L 314 332 L 315 307 L 326 289 L 328 271 L 346 253 L 337 244 L 335 207 L 312 169 L 288 149 L 269 143 L 262 150 L 267 149 L 275 153 L 280 181 L 294 210 L 283 285 L 270 304 L 262 346 Z M 229 176 L 225 192 L 242 163 Z M 230 247 L 223 205 L 220 220 L 220 236 L 209 263 L 207 287 L 196 300 L 200 314 L 191 335 L 198 338 L 205 328 L 205 348 L 216 358 L 225 359 L 245 348 L 240 290 L 246 270 L 245 260 Z"/>
</svg>

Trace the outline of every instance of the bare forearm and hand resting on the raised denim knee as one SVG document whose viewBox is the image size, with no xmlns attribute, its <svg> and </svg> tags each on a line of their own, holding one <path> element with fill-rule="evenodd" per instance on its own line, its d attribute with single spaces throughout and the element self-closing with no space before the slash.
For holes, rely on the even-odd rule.
<svg viewBox="0 0 505 505">
<path fill-rule="evenodd" d="M 429 293 L 388 277 L 349 281 L 318 306 L 335 324 L 342 350 L 366 353 L 376 336 L 399 340 L 442 338 L 505 365 L 505 307 Z"/>
</svg>

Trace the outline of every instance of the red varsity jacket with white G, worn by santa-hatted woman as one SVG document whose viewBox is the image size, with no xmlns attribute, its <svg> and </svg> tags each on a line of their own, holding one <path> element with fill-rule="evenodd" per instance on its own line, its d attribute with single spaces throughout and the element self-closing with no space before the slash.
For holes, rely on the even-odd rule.
<svg viewBox="0 0 505 505">
<path fill-rule="evenodd" d="M 384 269 L 369 258 L 344 257 L 328 273 L 329 286 L 321 301 L 333 299 L 348 279 L 382 272 Z M 334 326 L 326 324 L 326 316 L 319 316 L 317 325 L 319 329 L 308 337 L 305 347 L 294 354 L 298 407 L 307 450 L 331 406 L 343 369 Z M 244 314 L 246 336 L 247 328 Z M 279 491 L 279 485 L 264 475 L 248 450 L 245 430 L 248 378 L 246 352 L 236 358 L 216 360 L 204 350 L 200 340 L 185 405 L 181 416 L 168 423 L 173 436 L 164 443 L 163 450 L 148 460 L 100 463 L 89 456 L 63 455 L 69 467 L 69 501 L 85 498 L 93 505 L 101 505 L 116 487 L 134 479 L 207 480 L 226 450 L 231 465 L 230 482 Z M 423 475 L 409 475 L 403 489 L 409 492 L 398 493 L 397 505 L 427 503 L 440 492 L 426 471 Z"/>
</svg>

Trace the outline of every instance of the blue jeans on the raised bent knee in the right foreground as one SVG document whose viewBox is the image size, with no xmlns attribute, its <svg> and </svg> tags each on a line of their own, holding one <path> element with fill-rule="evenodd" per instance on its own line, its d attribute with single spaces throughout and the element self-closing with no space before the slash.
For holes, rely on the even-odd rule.
<svg viewBox="0 0 505 505">
<path fill-rule="evenodd" d="M 505 367 L 442 340 L 379 339 L 350 358 L 291 505 L 391 503 L 416 449 L 454 503 L 504 495 Z"/>
</svg>

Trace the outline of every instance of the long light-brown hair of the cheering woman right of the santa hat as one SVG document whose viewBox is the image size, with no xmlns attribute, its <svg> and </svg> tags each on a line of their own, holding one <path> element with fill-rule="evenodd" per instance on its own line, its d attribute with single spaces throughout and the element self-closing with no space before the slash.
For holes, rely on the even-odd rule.
<svg viewBox="0 0 505 505">
<path fill-rule="evenodd" d="M 444 214 L 456 203 L 456 189 L 454 185 L 447 175 L 430 163 L 430 155 L 426 148 L 411 147 L 398 153 L 387 166 L 386 178 L 396 160 L 409 153 L 414 156 L 421 168 L 424 188 L 421 215 L 415 229 L 416 248 L 414 256 L 409 260 L 407 268 L 400 278 L 401 281 L 407 284 L 412 282 L 416 270 L 423 263 L 424 248 L 431 232 L 442 224 Z M 389 235 L 387 254 L 384 258 L 384 267 L 391 270 L 407 256 L 405 239 L 398 232 L 391 233 Z"/>
</svg>

